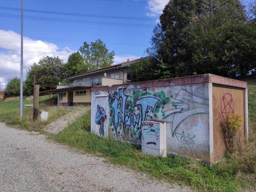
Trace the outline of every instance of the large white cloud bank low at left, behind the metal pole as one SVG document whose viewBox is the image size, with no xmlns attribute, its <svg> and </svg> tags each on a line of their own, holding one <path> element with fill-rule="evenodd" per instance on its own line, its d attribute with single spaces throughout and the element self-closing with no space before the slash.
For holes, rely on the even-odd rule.
<svg viewBox="0 0 256 192">
<path fill-rule="evenodd" d="M 59 56 L 67 61 L 73 52 L 69 47 L 59 49 L 57 45 L 40 40 L 23 38 L 23 76 L 26 70 L 37 63 L 43 56 Z M 5 87 L 6 81 L 20 77 L 20 35 L 13 31 L 0 30 L 0 84 Z"/>
</svg>

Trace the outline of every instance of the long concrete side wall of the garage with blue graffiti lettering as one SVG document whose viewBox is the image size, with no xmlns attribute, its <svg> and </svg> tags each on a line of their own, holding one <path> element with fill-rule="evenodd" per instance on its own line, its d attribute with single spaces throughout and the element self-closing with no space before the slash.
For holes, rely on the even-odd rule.
<svg viewBox="0 0 256 192">
<path fill-rule="evenodd" d="M 142 121 L 165 119 L 168 154 L 210 160 L 208 83 L 148 88 L 126 86 L 92 92 L 92 132 L 141 143 Z M 107 105 L 103 105 L 104 98 Z M 102 111 L 108 114 L 104 121 Z M 100 132 L 102 129 L 105 131 Z"/>
</svg>

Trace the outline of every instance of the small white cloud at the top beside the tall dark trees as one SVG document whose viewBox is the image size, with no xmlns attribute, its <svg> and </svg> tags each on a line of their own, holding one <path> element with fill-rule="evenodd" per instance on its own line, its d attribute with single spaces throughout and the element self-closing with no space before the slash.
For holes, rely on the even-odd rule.
<svg viewBox="0 0 256 192">
<path fill-rule="evenodd" d="M 156 17 L 163 13 L 163 9 L 169 0 L 148 0 L 148 5 L 146 9 L 148 12 L 146 15 L 148 17 Z"/>
</svg>

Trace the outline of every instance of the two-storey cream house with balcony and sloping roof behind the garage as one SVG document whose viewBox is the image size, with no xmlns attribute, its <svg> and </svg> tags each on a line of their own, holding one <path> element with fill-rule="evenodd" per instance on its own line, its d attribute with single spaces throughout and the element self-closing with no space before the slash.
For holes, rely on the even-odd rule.
<svg viewBox="0 0 256 192">
<path fill-rule="evenodd" d="M 142 59 L 70 76 L 67 79 L 72 80 L 72 82 L 58 84 L 55 90 L 42 91 L 41 93 L 58 93 L 58 105 L 60 106 L 90 105 L 92 87 L 129 83 L 131 81 L 130 65 Z"/>
</svg>

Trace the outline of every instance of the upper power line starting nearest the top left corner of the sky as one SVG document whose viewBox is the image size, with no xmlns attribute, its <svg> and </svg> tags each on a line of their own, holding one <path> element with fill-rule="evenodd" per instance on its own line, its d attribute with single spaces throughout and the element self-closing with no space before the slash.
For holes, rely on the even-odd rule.
<svg viewBox="0 0 256 192">
<path fill-rule="evenodd" d="M 14 7 L 2 7 L 0 9 L 20 11 L 20 8 Z M 81 16 L 81 17 L 99 17 L 99 18 L 109 18 L 109 19 L 127 19 L 127 20 L 154 20 L 152 18 L 146 17 L 126 17 L 126 16 L 114 16 L 114 15 L 96 15 L 96 14 L 84 14 L 84 13 L 74 13 L 74 12 L 56 12 L 56 11 L 47 11 L 47 10 L 38 10 L 38 9 L 24 9 L 24 12 L 34 12 L 34 13 L 46 13 L 46 14 L 55 14 L 55 15 L 72 15 L 72 16 Z"/>
</svg>

